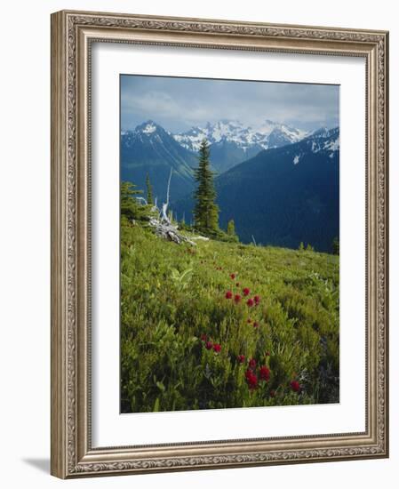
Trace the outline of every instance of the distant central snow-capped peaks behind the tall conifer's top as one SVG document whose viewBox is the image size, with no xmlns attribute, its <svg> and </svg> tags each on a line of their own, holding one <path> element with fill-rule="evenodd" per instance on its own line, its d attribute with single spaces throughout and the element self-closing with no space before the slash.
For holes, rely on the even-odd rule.
<svg viewBox="0 0 399 489">
<path fill-rule="evenodd" d="M 211 164 L 219 172 L 226 172 L 259 151 L 280 148 L 303 139 L 306 132 L 285 124 L 265 120 L 258 128 L 251 128 L 239 121 L 220 120 L 204 127 L 192 127 L 187 132 L 174 134 L 183 148 L 197 152 L 201 141 L 206 138 L 211 145 Z"/>
</svg>

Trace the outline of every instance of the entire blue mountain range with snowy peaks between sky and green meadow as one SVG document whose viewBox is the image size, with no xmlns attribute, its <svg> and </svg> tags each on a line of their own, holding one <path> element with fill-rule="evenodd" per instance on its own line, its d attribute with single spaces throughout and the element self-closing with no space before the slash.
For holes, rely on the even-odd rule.
<svg viewBox="0 0 399 489">
<path fill-rule="evenodd" d="M 192 220 L 194 171 L 206 138 L 215 173 L 220 227 L 235 221 L 243 243 L 331 253 L 339 237 L 339 129 L 303 132 L 266 120 L 257 128 L 220 120 L 187 132 L 154 121 L 121 132 L 121 180 L 145 190 L 147 175 L 165 201 L 172 168 L 171 209 Z"/>
</svg>

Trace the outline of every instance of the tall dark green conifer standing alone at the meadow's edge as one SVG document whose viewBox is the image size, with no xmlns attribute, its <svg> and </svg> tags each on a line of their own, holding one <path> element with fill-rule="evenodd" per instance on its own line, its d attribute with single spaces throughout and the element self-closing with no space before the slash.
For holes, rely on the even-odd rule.
<svg viewBox="0 0 399 489">
<path fill-rule="evenodd" d="M 219 231 L 219 207 L 215 204 L 216 191 L 209 156 L 208 141 L 203 139 L 199 148 L 199 162 L 195 173 L 198 186 L 194 194 L 196 206 L 193 214 L 196 229 L 204 234 L 215 235 Z"/>
</svg>

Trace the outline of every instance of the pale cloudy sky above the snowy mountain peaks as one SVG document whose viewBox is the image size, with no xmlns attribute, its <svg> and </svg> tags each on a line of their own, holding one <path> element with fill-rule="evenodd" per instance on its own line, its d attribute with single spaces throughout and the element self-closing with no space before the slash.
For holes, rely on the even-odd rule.
<svg viewBox="0 0 399 489">
<path fill-rule="evenodd" d="M 184 132 L 220 119 L 256 128 L 265 119 L 310 131 L 339 125 L 339 86 L 121 76 L 121 128 L 148 119 Z"/>
</svg>

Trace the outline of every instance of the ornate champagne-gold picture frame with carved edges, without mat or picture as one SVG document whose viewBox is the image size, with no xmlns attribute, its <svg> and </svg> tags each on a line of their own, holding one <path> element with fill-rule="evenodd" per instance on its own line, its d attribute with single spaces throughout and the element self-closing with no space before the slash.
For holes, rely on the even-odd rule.
<svg viewBox="0 0 399 489">
<path fill-rule="evenodd" d="M 365 60 L 366 311 L 362 432 L 92 446 L 93 43 Z M 142 15 L 52 14 L 52 475 L 92 477 L 388 456 L 388 33 Z"/>
</svg>

